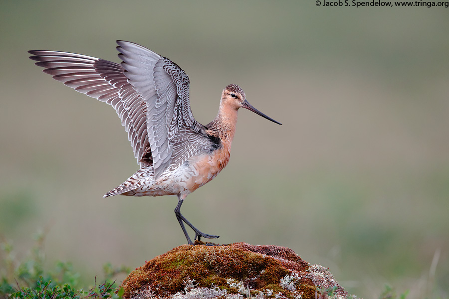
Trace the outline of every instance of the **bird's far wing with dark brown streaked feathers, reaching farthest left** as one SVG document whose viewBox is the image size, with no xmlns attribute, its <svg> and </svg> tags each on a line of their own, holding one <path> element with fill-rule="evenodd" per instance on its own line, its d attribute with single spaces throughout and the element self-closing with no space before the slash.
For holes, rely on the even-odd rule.
<svg viewBox="0 0 449 299">
<path fill-rule="evenodd" d="M 147 105 L 127 82 L 120 64 L 90 56 L 59 51 L 28 51 L 44 67 L 44 73 L 92 98 L 111 105 L 122 120 L 133 147 L 134 156 L 140 161 L 148 156 L 150 143 L 147 134 Z M 151 162 L 151 161 L 150 161 Z"/>
</svg>

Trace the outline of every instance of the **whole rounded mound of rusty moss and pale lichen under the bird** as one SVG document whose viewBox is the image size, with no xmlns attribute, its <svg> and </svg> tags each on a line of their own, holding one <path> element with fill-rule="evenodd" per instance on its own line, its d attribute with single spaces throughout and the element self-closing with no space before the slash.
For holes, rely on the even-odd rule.
<svg viewBox="0 0 449 299">
<path fill-rule="evenodd" d="M 179 246 L 131 272 L 121 286 L 125 299 L 348 296 L 327 269 L 291 249 L 246 243 Z"/>
</svg>

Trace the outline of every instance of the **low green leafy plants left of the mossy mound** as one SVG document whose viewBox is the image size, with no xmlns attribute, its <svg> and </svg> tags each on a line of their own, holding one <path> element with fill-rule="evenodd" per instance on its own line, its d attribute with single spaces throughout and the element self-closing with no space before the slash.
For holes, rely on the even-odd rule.
<svg viewBox="0 0 449 299">
<path fill-rule="evenodd" d="M 123 289 L 115 288 L 113 278 L 119 273 L 129 273 L 126 267 L 103 266 L 105 281 L 80 288 L 79 273 L 71 263 L 57 262 L 53 270 L 44 269 L 43 242 L 45 234 L 35 236 L 35 245 L 23 260 L 15 258 L 11 242 L 2 240 L 0 251 L 0 299 L 120 299 Z M 85 291 L 89 290 L 89 291 Z"/>
</svg>

